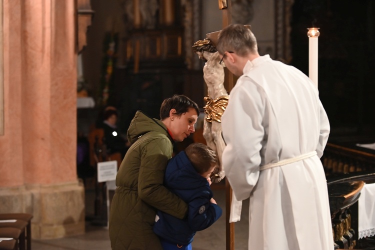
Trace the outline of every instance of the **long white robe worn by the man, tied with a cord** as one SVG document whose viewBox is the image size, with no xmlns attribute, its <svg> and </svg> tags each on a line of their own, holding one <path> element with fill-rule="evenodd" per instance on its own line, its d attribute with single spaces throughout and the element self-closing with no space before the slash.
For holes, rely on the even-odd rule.
<svg viewBox="0 0 375 250">
<path fill-rule="evenodd" d="M 312 81 L 268 55 L 248 61 L 221 120 L 223 170 L 249 200 L 249 250 L 333 250 L 320 157 L 329 122 Z M 259 166 L 317 156 L 259 172 Z"/>
</svg>

